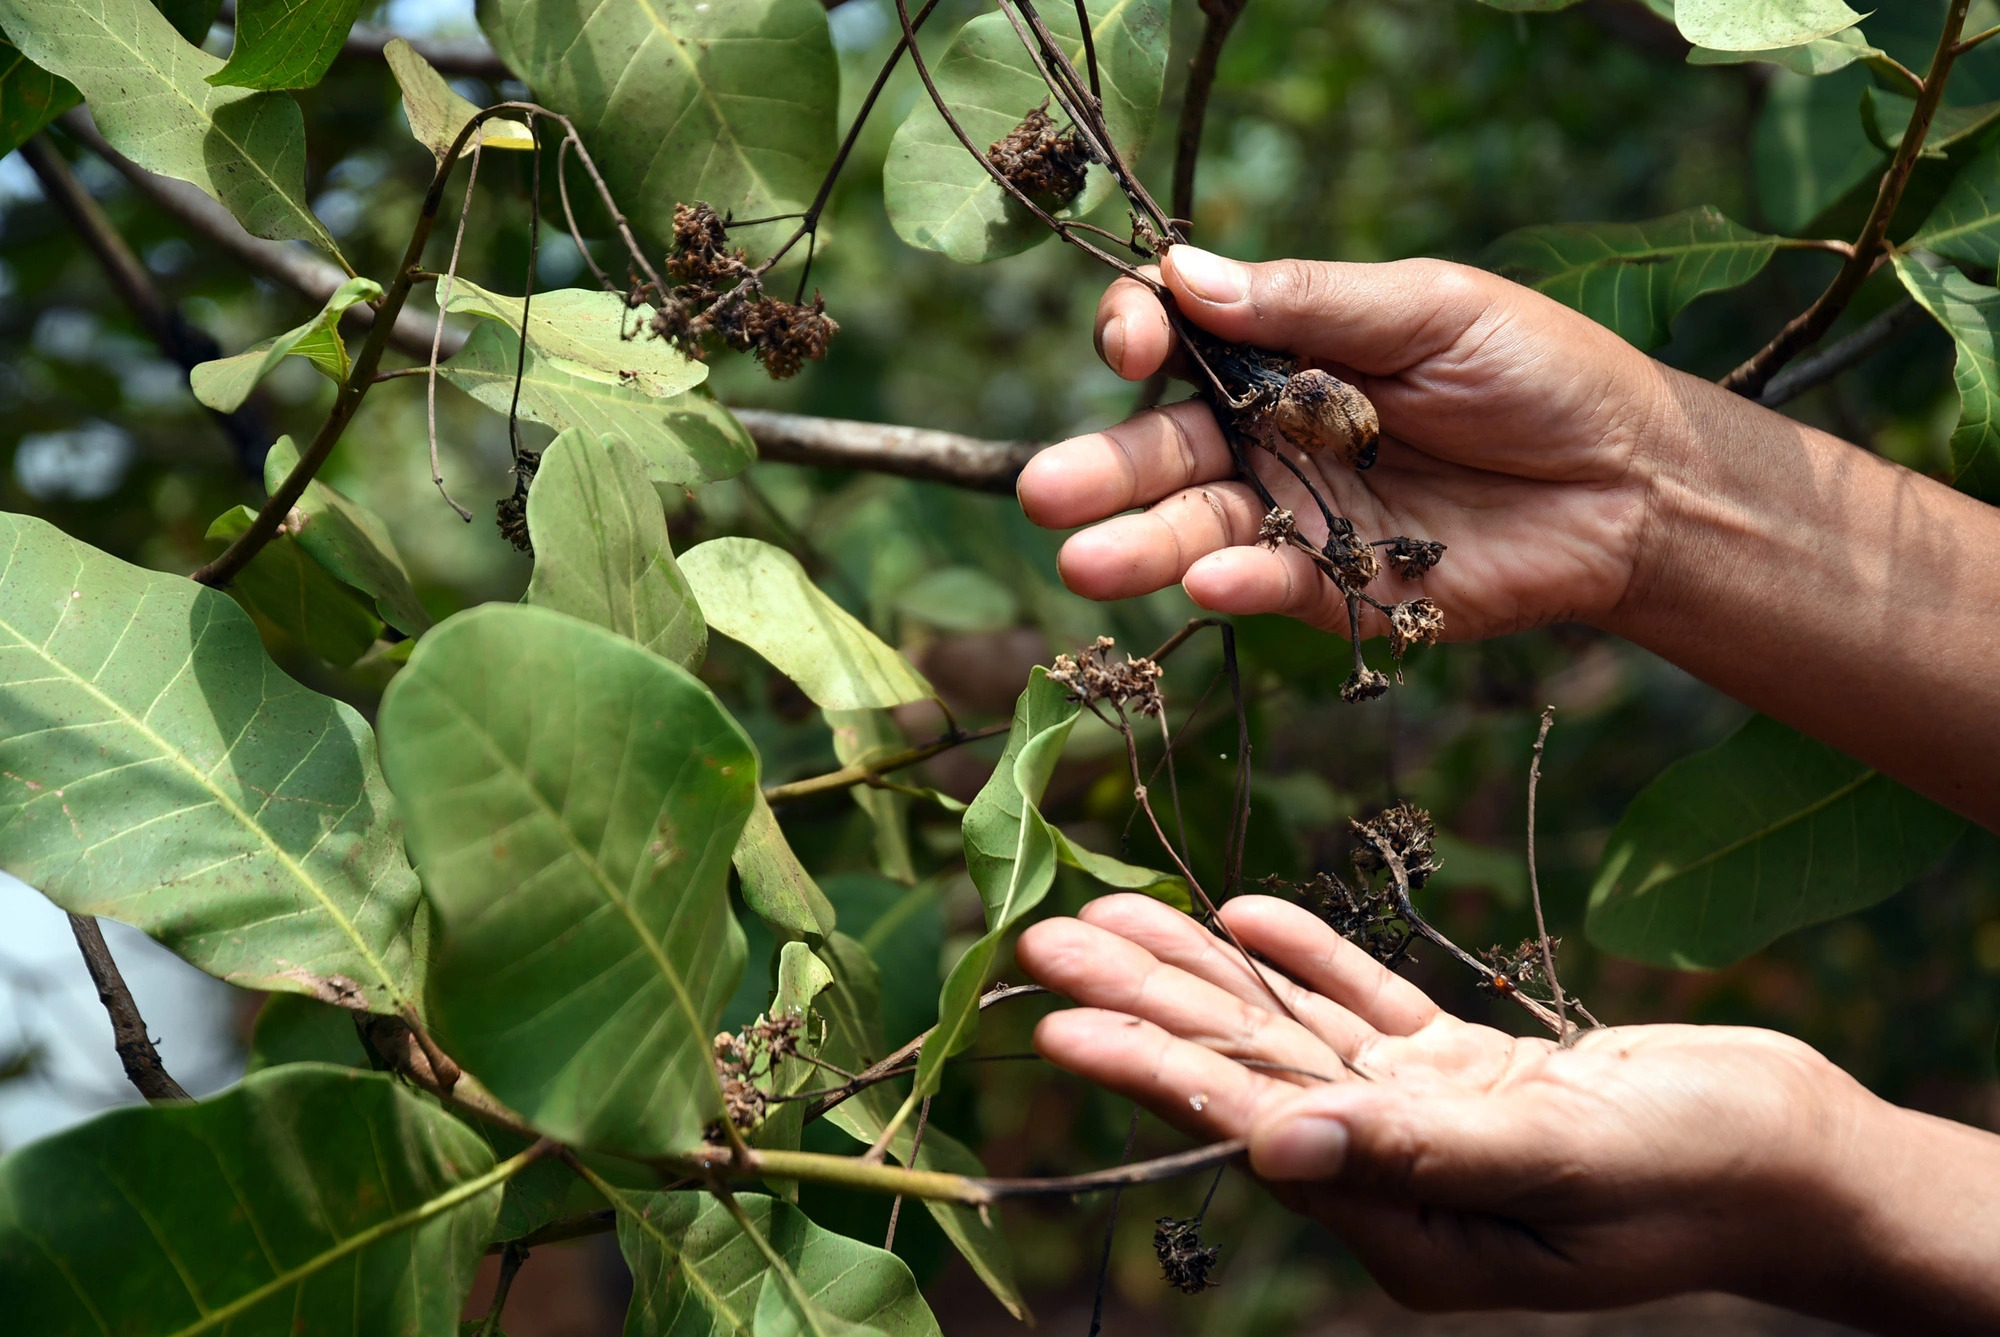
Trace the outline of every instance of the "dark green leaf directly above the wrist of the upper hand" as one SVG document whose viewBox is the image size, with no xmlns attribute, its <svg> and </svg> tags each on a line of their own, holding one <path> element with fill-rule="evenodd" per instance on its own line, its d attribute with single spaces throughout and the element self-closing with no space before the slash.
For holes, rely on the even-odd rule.
<svg viewBox="0 0 2000 1337">
<path fill-rule="evenodd" d="M 1646 222 L 1564 222 L 1508 232 L 1486 266 L 1574 306 L 1640 348 L 1672 336 L 1680 308 L 1756 278 L 1778 238 L 1688 208 Z"/>
</svg>

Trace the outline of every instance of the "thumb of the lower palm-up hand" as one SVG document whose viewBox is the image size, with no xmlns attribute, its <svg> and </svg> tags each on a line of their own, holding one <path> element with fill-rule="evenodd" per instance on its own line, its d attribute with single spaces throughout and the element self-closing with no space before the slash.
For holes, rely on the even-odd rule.
<svg viewBox="0 0 2000 1337">
<path fill-rule="evenodd" d="M 1482 1211 L 1574 1173 L 1570 1147 L 1534 1101 L 1340 1083 L 1260 1119 L 1250 1167 L 1272 1181 Z"/>
</svg>

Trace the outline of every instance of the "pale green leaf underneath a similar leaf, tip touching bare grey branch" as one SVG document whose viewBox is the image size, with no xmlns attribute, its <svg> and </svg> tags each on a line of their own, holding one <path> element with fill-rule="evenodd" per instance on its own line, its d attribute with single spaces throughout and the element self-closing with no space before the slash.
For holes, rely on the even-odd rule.
<svg viewBox="0 0 2000 1337">
<path fill-rule="evenodd" d="M 440 370 L 472 398 L 506 412 L 514 402 L 518 348 L 516 332 L 482 320 Z M 616 436 L 638 452 L 654 482 L 712 482 L 740 474 L 756 460 L 756 444 L 712 398 L 694 390 L 654 398 L 634 386 L 578 376 L 538 354 L 532 342 L 520 378 L 520 416 L 558 432 L 578 428 L 588 436 Z"/>
</svg>

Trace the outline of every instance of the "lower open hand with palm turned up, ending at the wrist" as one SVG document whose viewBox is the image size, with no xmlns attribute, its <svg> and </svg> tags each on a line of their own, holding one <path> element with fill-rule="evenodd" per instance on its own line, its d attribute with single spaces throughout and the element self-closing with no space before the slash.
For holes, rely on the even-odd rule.
<svg viewBox="0 0 2000 1337">
<path fill-rule="evenodd" d="M 1396 1299 L 1594 1309 L 1728 1289 L 1814 1307 L 1822 1271 L 1858 1271 L 1844 1231 L 1868 1191 L 1846 1167 L 1900 1111 L 1806 1045 L 1666 1025 L 1558 1049 L 1438 1011 L 1286 901 L 1222 915 L 1284 973 L 1264 975 L 1298 1021 L 1226 941 L 1116 895 L 1022 935 L 1020 965 L 1080 1003 L 1036 1049 L 1186 1133 L 1248 1137 L 1252 1171 Z"/>
</svg>

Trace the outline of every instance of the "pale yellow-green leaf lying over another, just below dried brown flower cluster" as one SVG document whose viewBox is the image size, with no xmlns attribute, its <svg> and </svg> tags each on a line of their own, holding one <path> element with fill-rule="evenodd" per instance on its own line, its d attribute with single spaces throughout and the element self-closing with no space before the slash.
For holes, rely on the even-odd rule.
<svg viewBox="0 0 2000 1337">
<path fill-rule="evenodd" d="M 536 292 L 528 306 L 528 346 L 560 372 L 628 386 L 648 398 L 692 390 L 708 378 L 708 364 L 654 338 L 646 316 L 626 306 L 624 294 L 602 288 Z M 522 300 L 488 292 L 464 278 L 452 280 L 446 310 L 498 320 L 520 334 Z"/>
</svg>

